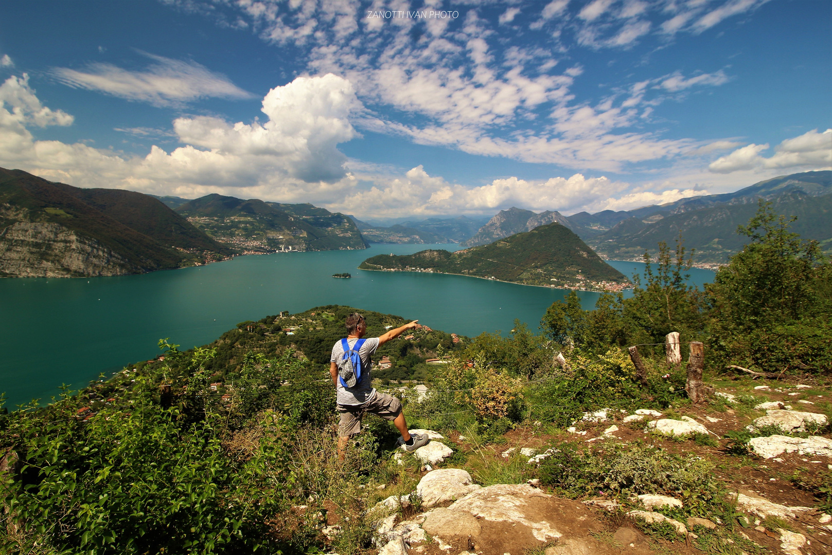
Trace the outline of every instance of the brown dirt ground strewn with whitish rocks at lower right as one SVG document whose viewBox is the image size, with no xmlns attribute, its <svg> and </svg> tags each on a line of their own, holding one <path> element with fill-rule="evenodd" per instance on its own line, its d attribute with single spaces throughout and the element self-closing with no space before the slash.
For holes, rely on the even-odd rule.
<svg viewBox="0 0 832 555">
<path fill-rule="evenodd" d="M 715 385 L 716 396 L 704 405 L 599 409 L 567 430 L 535 423 L 486 445 L 457 431 L 445 438 L 421 430 L 432 440 L 416 453 L 421 466 L 415 491 L 389 496 L 370 511 L 379 555 L 832 553 L 832 517 L 817 508 L 815 497 L 817 484 L 832 485 L 830 389 L 808 377 L 790 383 L 726 379 Z M 738 431 L 748 433 L 730 437 Z M 623 504 L 605 495 L 558 496 L 533 476 L 537 464 L 564 441 L 597 447 L 642 442 L 710 460 L 726 495 L 735 500 L 732 518 L 740 526 L 720 518 L 667 518 L 661 509 L 682 502 L 666 495 L 641 495 Z M 467 463 L 444 464 L 453 459 L 446 444 L 470 454 Z M 403 459 L 400 452 L 393 456 Z M 521 483 L 476 484 L 484 468 L 500 464 L 521 468 L 513 474 Z M 662 521 L 670 525 L 663 528 L 669 533 L 655 533 L 649 525 Z M 717 536 L 721 528 L 733 535 Z M 337 534 L 339 527 L 325 532 Z M 711 538 L 709 533 L 715 539 L 703 545 L 699 537 Z"/>
</svg>

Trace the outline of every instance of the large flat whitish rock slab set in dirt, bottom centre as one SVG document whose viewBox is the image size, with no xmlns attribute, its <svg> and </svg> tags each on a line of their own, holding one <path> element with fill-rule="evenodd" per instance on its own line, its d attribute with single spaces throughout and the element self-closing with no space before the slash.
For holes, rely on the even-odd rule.
<svg viewBox="0 0 832 555">
<path fill-rule="evenodd" d="M 528 484 L 498 484 L 457 499 L 448 508 L 452 511 L 466 511 L 487 521 L 525 526 L 541 542 L 560 538 L 562 534 L 552 528 L 552 523 L 536 521 L 529 513 L 532 510 L 529 503 L 536 498 L 551 499 L 552 496 Z"/>
</svg>

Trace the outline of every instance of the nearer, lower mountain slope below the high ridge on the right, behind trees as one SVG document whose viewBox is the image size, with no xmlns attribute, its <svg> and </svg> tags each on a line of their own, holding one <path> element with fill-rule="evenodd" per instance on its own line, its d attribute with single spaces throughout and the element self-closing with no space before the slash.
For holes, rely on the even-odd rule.
<svg viewBox="0 0 832 555">
<path fill-rule="evenodd" d="M 804 239 L 815 239 L 826 253 L 832 253 L 832 194 L 811 197 L 792 189 L 772 199 L 777 214 L 797 216 L 790 229 Z M 641 260 L 647 250 L 656 252 L 656 244 L 673 244 L 681 232 L 686 248 L 696 248 L 698 264 L 727 263 L 742 250 L 749 238 L 736 233 L 757 211 L 757 204 L 714 204 L 655 219 L 637 217 L 617 223 L 609 231 L 587 239 L 597 253 L 617 260 Z"/>
</svg>

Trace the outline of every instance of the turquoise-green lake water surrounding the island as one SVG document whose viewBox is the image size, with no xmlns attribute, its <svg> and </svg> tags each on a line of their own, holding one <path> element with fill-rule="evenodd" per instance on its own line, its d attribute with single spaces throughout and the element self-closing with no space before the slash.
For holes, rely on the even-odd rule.
<svg viewBox="0 0 832 555">
<path fill-rule="evenodd" d="M 514 318 L 537 330 L 566 291 L 462 276 L 357 270 L 380 253 L 410 254 L 458 245 L 373 245 L 361 251 L 243 256 L 199 268 L 118 278 L 0 279 L 0 391 L 10 409 L 86 386 L 131 362 L 159 354 L 170 337 L 183 348 L 214 341 L 245 320 L 340 304 L 398 314 L 445 332 L 508 331 Z M 642 263 L 611 262 L 627 276 Z M 349 272 L 351 279 L 331 278 Z M 691 270 L 691 282 L 714 273 Z M 579 292 L 583 306 L 598 293 Z"/>
</svg>

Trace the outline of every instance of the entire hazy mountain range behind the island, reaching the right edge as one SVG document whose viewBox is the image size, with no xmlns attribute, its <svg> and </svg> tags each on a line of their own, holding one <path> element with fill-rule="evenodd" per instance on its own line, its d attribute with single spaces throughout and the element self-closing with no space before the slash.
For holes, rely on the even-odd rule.
<svg viewBox="0 0 832 555">
<path fill-rule="evenodd" d="M 656 252 L 657 243 L 672 244 L 681 231 L 687 248 L 696 248 L 694 263 L 725 263 L 747 239 L 737 235 L 740 223 L 755 214 L 759 199 L 771 201 L 780 214 L 796 215 L 792 228 L 801 237 L 820 242 L 832 253 L 832 171 L 810 171 L 765 179 L 733 193 L 709 194 L 672 203 L 632 210 L 579 212 L 563 216 L 557 212 L 535 214 L 530 210 L 502 210 L 465 244 L 508 237 L 534 228 L 547 220 L 572 229 L 604 258 L 641 260 L 645 251 Z"/>
</svg>

